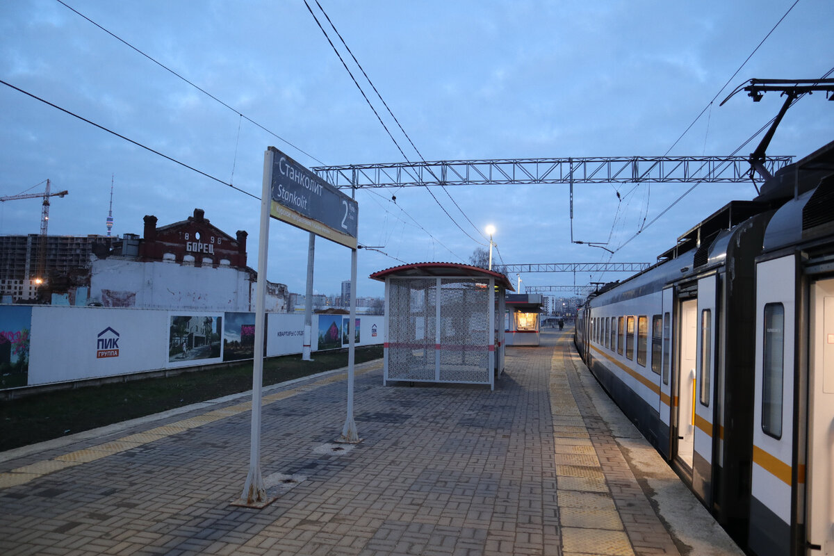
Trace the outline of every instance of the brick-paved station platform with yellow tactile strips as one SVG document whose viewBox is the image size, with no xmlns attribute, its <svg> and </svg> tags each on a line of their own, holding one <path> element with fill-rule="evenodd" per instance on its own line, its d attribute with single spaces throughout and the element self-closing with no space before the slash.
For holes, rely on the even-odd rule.
<svg viewBox="0 0 834 556">
<path fill-rule="evenodd" d="M 249 470 L 245 396 L 0 453 L 0 553 L 692 552 L 568 330 L 508 348 L 492 392 L 384 387 L 381 362 L 357 368 L 363 442 L 339 449 L 345 394 L 344 373 L 266 390 L 261 468 L 281 489 L 263 509 L 231 505 Z"/>
</svg>

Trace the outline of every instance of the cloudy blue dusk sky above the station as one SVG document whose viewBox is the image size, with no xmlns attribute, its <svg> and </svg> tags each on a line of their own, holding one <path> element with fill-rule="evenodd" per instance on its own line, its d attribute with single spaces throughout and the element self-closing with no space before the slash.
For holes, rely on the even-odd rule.
<svg viewBox="0 0 834 556">
<path fill-rule="evenodd" d="M 834 67 L 830 0 L 319 0 L 406 138 L 308 0 L 398 148 L 304 0 L 63 2 L 0 2 L 0 80 L 200 173 L 0 84 L 0 196 L 43 191 L 48 178 L 69 192 L 53 198 L 49 233 L 104 234 L 112 182 L 113 234 L 202 208 L 229 235 L 249 233 L 252 268 L 269 146 L 308 168 L 402 162 L 399 148 L 412 161 L 746 155 L 783 99 L 719 103 L 750 78 Z M 801 158 L 834 140 L 832 104 L 802 98 L 767 152 Z M 367 277 L 403 262 L 468 262 L 490 224 L 496 263 L 653 263 L 724 204 L 756 196 L 749 183 L 701 184 L 634 238 L 686 187 L 576 185 L 574 238 L 613 255 L 570 243 L 564 185 L 433 188 L 437 201 L 426 188 L 360 188 L 359 243 L 379 251 L 359 250 L 357 294 L 381 296 Z M 0 234 L 39 233 L 40 213 L 40 199 L 0 203 Z M 308 238 L 271 220 L 270 281 L 304 293 Z M 520 278 L 524 288 L 626 276 Z M 318 238 L 315 292 L 339 293 L 349 277 L 350 250 Z"/>
</svg>

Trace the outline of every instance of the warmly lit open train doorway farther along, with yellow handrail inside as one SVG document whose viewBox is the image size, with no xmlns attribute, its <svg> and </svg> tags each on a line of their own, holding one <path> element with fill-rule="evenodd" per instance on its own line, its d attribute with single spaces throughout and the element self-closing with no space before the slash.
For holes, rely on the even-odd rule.
<svg viewBox="0 0 834 556">
<path fill-rule="evenodd" d="M 677 456 L 692 470 L 695 449 L 695 365 L 698 340 L 698 302 L 681 303 L 681 351 L 677 365 Z M 674 404 L 672 411 L 674 411 Z"/>
</svg>

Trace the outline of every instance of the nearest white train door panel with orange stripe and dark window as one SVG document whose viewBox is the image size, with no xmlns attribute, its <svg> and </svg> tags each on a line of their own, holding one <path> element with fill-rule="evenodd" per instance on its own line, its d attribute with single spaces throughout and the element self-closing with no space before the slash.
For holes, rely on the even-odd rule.
<svg viewBox="0 0 834 556">
<path fill-rule="evenodd" d="M 748 543 L 759 556 L 792 553 L 794 484 L 804 482 L 801 468 L 794 466 L 795 300 L 793 255 L 756 265 L 756 385 Z"/>
</svg>

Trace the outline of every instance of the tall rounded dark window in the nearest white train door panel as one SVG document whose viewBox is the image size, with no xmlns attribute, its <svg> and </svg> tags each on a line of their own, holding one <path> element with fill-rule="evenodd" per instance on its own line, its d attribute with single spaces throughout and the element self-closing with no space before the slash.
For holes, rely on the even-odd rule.
<svg viewBox="0 0 834 556">
<path fill-rule="evenodd" d="M 785 308 L 765 305 L 764 368 L 761 374 L 761 430 L 781 438 L 782 378 L 785 372 Z"/>
</svg>

